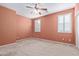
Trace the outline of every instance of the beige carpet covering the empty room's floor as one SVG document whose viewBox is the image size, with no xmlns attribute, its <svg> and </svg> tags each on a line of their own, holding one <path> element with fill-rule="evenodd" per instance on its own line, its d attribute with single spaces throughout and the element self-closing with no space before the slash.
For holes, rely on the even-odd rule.
<svg viewBox="0 0 79 59">
<path fill-rule="evenodd" d="M 79 50 L 71 44 L 27 38 L 0 46 L 0 56 L 79 56 Z"/>
</svg>

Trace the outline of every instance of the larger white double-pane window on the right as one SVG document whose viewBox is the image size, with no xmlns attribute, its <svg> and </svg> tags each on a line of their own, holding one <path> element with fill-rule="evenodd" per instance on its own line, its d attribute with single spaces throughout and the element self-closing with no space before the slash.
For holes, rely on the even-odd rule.
<svg viewBox="0 0 79 59">
<path fill-rule="evenodd" d="M 72 32 L 72 14 L 58 16 L 58 32 L 71 33 Z"/>
</svg>

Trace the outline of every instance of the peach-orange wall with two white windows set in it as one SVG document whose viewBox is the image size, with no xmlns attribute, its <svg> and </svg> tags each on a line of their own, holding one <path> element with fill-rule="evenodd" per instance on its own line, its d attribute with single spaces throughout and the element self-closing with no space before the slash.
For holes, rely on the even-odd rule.
<svg viewBox="0 0 79 59">
<path fill-rule="evenodd" d="M 58 33 L 57 32 L 57 25 L 58 20 L 57 16 L 59 14 L 66 14 L 66 13 L 72 13 L 72 33 Z M 33 36 L 39 37 L 39 38 L 45 38 L 49 40 L 54 41 L 60 41 L 60 42 L 66 42 L 66 43 L 72 43 L 75 44 L 75 35 L 74 35 L 74 8 L 64 10 L 61 12 L 57 12 L 54 14 L 50 14 L 44 17 L 40 17 L 41 19 L 41 32 L 34 32 L 33 30 Z M 33 20 L 33 29 L 34 29 L 34 20 Z M 62 40 L 64 38 L 64 40 Z"/>
</svg>

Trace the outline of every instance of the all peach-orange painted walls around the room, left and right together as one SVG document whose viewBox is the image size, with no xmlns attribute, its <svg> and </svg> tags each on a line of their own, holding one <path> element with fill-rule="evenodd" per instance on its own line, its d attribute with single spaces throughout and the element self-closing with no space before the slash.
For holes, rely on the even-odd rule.
<svg viewBox="0 0 79 59">
<path fill-rule="evenodd" d="M 57 32 L 57 15 L 65 13 L 72 13 L 72 33 Z M 16 15 L 15 11 L 0 6 L 0 45 L 31 36 L 75 44 L 74 8 L 40 17 L 40 19 L 41 32 L 35 33 L 34 20 Z M 62 40 L 63 38 L 65 40 Z"/>
</svg>

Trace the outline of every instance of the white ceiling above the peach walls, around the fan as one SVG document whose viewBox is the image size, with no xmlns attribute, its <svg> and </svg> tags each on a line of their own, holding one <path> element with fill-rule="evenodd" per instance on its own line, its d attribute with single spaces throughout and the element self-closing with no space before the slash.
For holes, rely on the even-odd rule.
<svg viewBox="0 0 79 59">
<path fill-rule="evenodd" d="M 27 5 L 34 6 L 34 4 L 32 3 L 0 3 L 0 5 L 16 10 L 17 14 L 29 18 L 35 18 L 50 13 L 55 13 L 65 9 L 73 8 L 75 6 L 74 3 L 41 3 L 40 6 L 47 8 L 48 12 L 44 12 L 42 15 L 39 15 L 39 14 L 31 13 L 32 11 L 34 11 L 33 9 L 28 9 L 25 7 Z"/>
</svg>

